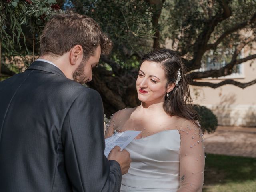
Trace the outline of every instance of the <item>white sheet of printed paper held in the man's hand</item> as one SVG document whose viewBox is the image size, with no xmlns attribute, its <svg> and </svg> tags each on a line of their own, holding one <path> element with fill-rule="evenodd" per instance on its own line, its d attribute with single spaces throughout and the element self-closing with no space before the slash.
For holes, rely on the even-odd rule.
<svg viewBox="0 0 256 192">
<path fill-rule="evenodd" d="M 120 146 L 123 150 L 134 138 L 140 134 L 141 131 L 125 131 L 112 135 L 109 138 L 105 139 L 105 151 L 104 154 L 108 157 L 108 154 L 114 148 L 114 146 Z"/>
</svg>

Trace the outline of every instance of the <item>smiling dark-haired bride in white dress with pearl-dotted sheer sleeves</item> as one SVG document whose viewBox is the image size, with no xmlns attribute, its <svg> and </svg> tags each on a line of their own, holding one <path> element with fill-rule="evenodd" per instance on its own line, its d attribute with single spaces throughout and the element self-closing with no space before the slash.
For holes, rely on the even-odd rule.
<svg viewBox="0 0 256 192">
<path fill-rule="evenodd" d="M 141 105 L 116 112 L 106 130 L 141 131 L 125 148 L 132 163 L 121 192 L 201 192 L 203 134 L 182 60 L 167 49 L 144 55 L 136 88 Z"/>
</svg>

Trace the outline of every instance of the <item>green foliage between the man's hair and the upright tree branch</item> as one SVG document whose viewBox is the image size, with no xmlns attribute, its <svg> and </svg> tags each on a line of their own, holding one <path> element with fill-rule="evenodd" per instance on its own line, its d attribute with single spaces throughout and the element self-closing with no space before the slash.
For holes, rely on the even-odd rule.
<svg viewBox="0 0 256 192">
<path fill-rule="evenodd" d="M 96 20 L 114 42 L 111 59 L 123 68 L 138 66 L 140 54 L 152 49 L 152 10 L 144 0 L 72 1 L 76 10 Z"/>
</svg>

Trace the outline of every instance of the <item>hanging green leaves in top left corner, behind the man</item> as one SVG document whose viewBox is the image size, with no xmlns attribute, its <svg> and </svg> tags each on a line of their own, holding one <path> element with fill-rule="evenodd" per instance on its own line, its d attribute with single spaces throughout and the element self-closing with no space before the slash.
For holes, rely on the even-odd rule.
<svg viewBox="0 0 256 192">
<path fill-rule="evenodd" d="M 39 34 L 50 15 L 56 12 L 56 0 L 4 0 L 0 2 L 0 35 L 2 46 L 9 55 L 31 54 L 26 35 Z M 38 35 L 37 37 L 38 38 Z"/>
</svg>

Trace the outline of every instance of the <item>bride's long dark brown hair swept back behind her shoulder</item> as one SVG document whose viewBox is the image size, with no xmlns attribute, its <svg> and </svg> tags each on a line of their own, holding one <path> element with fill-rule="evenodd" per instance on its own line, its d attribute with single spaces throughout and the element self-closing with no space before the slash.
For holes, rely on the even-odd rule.
<svg viewBox="0 0 256 192">
<path fill-rule="evenodd" d="M 186 70 L 180 56 L 172 50 L 160 49 L 145 54 L 142 57 L 141 63 L 145 60 L 159 63 L 162 66 L 167 78 L 166 87 L 170 83 L 176 83 L 180 69 L 180 81 L 178 85 L 169 92 L 169 96 L 166 96 L 164 111 L 170 116 L 176 115 L 191 120 L 194 124 L 198 125 L 196 122 L 196 120 L 198 120 L 198 114 L 191 106 L 192 98 L 190 96 L 188 80 L 185 76 Z"/>
</svg>

